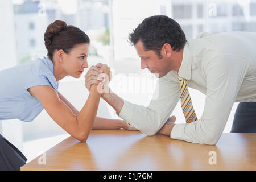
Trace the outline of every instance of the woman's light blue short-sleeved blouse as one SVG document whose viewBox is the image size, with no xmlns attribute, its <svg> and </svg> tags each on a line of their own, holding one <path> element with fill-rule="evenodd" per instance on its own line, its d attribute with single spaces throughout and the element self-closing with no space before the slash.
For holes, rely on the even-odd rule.
<svg viewBox="0 0 256 182">
<path fill-rule="evenodd" d="M 36 85 L 49 85 L 56 91 L 59 88 L 48 57 L 0 71 L 0 120 L 35 119 L 44 108 L 27 89 Z"/>
</svg>

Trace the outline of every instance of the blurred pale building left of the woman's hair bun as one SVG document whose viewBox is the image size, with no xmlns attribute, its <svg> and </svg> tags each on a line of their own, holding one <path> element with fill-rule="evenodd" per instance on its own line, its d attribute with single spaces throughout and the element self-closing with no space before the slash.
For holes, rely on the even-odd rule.
<svg viewBox="0 0 256 182">
<path fill-rule="evenodd" d="M 25 1 L 14 5 L 14 30 L 18 63 L 46 55 L 44 32 L 47 27 L 45 14 L 40 14 L 40 2 Z"/>
</svg>

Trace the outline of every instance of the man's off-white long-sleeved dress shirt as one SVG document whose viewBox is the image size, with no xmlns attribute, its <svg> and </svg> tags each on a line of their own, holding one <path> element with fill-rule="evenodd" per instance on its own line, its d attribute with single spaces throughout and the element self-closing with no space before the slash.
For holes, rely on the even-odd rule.
<svg viewBox="0 0 256 182">
<path fill-rule="evenodd" d="M 187 80 L 188 87 L 206 95 L 205 106 L 197 121 L 175 125 L 172 139 L 216 144 L 234 102 L 256 102 L 255 46 L 254 32 L 203 32 L 187 40 L 179 76 Z M 142 133 L 155 135 L 180 99 L 177 72 L 159 78 L 158 89 L 158 98 L 147 107 L 124 101 L 119 117 Z"/>
</svg>

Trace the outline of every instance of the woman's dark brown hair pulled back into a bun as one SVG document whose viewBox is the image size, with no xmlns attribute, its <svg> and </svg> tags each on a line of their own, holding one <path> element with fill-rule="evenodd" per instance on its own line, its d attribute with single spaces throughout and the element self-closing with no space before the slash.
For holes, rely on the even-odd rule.
<svg viewBox="0 0 256 182">
<path fill-rule="evenodd" d="M 90 43 L 90 39 L 85 32 L 72 25 L 68 25 L 60 20 L 49 24 L 44 33 L 44 44 L 47 49 L 47 56 L 53 61 L 55 50 L 62 49 L 69 53 L 79 44 Z"/>
</svg>

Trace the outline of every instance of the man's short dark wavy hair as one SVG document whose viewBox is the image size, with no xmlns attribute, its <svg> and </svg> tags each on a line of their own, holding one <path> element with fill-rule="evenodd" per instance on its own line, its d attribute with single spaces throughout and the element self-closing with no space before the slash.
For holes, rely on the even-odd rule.
<svg viewBox="0 0 256 182">
<path fill-rule="evenodd" d="M 165 43 L 170 44 L 174 51 L 180 51 L 187 41 L 179 23 L 165 15 L 150 16 L 144 19 L 129 34 L 129 40 L 131 45 L 141 40 L 145 51 L 155 51 L 159 59 L 162 59 L 160 50 Z"/>
</svg>

